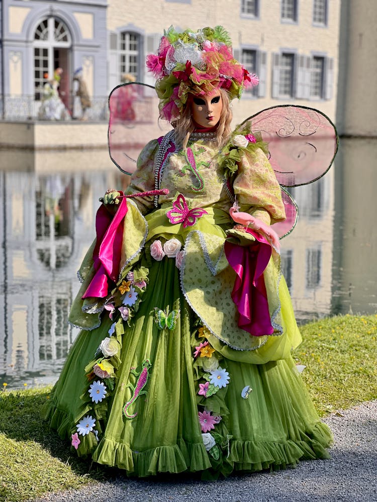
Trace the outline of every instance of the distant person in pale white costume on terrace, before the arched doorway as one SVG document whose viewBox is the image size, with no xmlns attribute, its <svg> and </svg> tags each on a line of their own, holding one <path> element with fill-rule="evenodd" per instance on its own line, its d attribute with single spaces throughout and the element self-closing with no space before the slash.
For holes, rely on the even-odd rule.
<svg viewBox="0 0 377 502">
<path fill-rule="evenodd" d="M 70 120 L 71 115 L 59 95 L 62 68 L 56 68 L 53 78 L 45 74 L 47 82 L 43 86 L 42 103 L 38 110 L 40 120 Z"/>
</svg>

